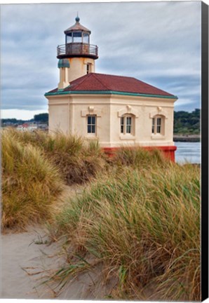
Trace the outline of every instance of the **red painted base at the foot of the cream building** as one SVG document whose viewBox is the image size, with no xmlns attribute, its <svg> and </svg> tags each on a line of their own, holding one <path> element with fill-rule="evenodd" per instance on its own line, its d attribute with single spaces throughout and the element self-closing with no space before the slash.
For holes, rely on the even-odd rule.
<svg viewBox="0 0 209 303">
<path fill-rule="evenodd" d="M 176 146 L 163 146 L 163 147 L 142 147 L 147 150 L 151 149 L 159 149 L 163 152 L 163 154 L 166 156 L 166 158 L 170 159 L 171 161 L 175 162 L 175 151 L 177 149 Z M 114 156 L 115 152 L 120 149 L 120 147 L 104 147 L 104 153 L 107 154 L 107 156 L 112 157 Z"/>
</svg>

